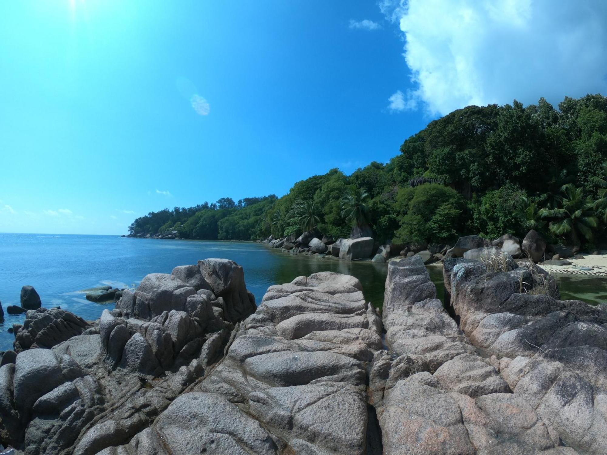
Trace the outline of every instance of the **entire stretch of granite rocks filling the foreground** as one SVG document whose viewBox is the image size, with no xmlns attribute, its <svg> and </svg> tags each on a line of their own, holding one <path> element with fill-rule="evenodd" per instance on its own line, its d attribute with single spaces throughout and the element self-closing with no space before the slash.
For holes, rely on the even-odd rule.
<svg viewBox="0 0 607 455">
<path fill-rule="evenodd" d="M 455 248 L 455 247 L 454 247 Z M 489 248 L 483 246 L 481 248 Z M 469 249 L 467 251 L 472 251 Z M 27 311 L 0 361 L 0 443 L 38 454 L 604 454 L 607 307 L 531 261 L 390 261 L 268 288 L 207 259 L 86 322 Z M 16 453 L 16 452 L 15 452 Z"/>
</svg>

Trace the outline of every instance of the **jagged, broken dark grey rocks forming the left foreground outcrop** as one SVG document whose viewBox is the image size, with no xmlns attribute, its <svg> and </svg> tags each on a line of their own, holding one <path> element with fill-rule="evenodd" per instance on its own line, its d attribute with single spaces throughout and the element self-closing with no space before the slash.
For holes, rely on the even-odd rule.
<svg viewBox="0 0 607 455">
<path fill-rule="evenodd" d="M 222 357 L 234 327 L 228 315 L 254 306 L 240 266 L 201 263 L 194 267 L 214 291 L 148 275 L 93 326 L 61 309 L 28 311 L 16 332 L 21 352 L 0 362 L 0 444 L 32 455 L 95 454 L 148 428 Z M 181 276 L 200 288 L 202 271 L 190 266 Z"/>
</svg>

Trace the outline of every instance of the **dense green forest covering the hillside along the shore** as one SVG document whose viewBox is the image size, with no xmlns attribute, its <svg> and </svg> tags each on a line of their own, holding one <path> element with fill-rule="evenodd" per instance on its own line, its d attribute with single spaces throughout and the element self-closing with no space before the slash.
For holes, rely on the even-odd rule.
<svg viewBox="0 0 607 455">
<path fill-rule="evenodd" d="M 283 197 L 222 198 L 137 218 L 131 235 L 258 240 L 315 229 L 381 243 L 450 243 L 529 229 L 549 243 L 594 248 L 607 223 L 607 98 L 468 106 L 430 122 L 389 163 L 331 169 Z"/>
</svg>

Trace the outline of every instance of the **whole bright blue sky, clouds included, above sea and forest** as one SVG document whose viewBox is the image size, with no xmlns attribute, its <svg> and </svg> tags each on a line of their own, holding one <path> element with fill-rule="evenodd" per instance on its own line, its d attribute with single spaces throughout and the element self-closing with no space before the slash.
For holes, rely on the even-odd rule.
<svg viewBox="0 0 607 455">
<path fill-rule="evenodd" d="M 467 104 L 603 90 L 602 4 L 527 3 L 2 2 L 0 231 L 123 234 L 388 161 Z"/>
</svg>

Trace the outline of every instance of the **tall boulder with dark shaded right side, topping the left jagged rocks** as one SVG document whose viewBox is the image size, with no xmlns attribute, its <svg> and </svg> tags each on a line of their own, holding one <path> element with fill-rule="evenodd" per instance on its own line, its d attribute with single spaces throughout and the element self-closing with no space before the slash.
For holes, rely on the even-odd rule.
<svg viewBox="0 0 607 455">
<path fill-rule="evenodd" d="M 211 258 L 198 261 L 198 268 L 215 297 L 222 300 L 225 320 L 237 322 L 255 311 L 255 297 L 246 290 L 242 266 L 228 259 Z"/>
</svg>

